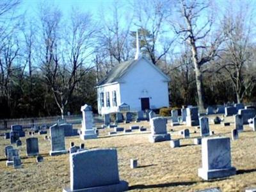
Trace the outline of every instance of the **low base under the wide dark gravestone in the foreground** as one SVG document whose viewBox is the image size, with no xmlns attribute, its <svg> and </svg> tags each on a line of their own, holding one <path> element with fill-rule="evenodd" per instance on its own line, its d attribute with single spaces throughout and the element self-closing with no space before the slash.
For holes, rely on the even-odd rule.
<svg viewBox="0 0 256 192">
<path fill-rule="evenodd" d="M 70 188 L 63 189 L 63 192 L 112 192 L 112 191 L 127 191 L 128 190 L 128 182 L 124 180 L 120 180 L 118 184 L 111 184 L 107 186 L 96 186 L 92 188 L 84 188 L 84 189 L 76 189 L 71 190 Z"/>
</svg>

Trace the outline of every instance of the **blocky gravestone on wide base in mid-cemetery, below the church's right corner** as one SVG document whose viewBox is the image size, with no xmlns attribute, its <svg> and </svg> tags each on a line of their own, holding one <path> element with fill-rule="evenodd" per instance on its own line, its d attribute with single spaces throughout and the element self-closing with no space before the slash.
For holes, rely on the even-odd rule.
<svg viewBox="0 0 256 192">
<path fill-rule="evenodd" d="M 171 140 L 170 134 L 167 133 L 166 124 L 167 119 L 163 117 L 154 117 L 150 120 L 151 134 L 148 136 L 148 140 L 151 143 Z"/>
</svg>

